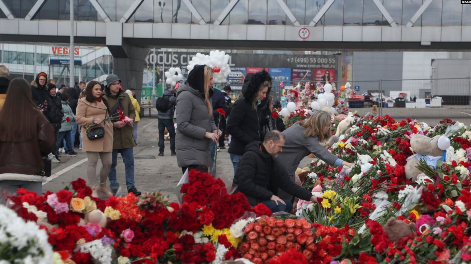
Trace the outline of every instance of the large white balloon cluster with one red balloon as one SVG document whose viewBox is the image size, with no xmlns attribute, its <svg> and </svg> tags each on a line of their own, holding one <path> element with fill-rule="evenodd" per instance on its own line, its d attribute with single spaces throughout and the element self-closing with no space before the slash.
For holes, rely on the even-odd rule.
<svg viewBox="0 0 471 264">
<path fill-rule="evenodd" d="M 214 70 L 214 82 L 225 83 L 227 82 L 227 76 L 231 74 L 229 58 L 230 56 L 226 52 L 219 50 L 211 50 L 209 55 L 203 55 L 198 52 L 188 62 L 188 73 L 193 70 L 195 65 L 207 65 Z"/>
</svg>

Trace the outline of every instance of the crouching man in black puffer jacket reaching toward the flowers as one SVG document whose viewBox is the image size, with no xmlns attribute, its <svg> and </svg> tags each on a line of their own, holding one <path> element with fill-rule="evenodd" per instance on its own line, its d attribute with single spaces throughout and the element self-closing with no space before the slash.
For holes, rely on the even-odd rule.
<svg viewBox="0 0 471 264">
<path fill-rule="evenodd" d="M 263 143 L 247 145 L 233 184 L 237 186 L 236 191 L 244 193 L 251 206 L 262 203 L 273 213 L 291 212 L 291 201 L 280 199 L 277 196 L 278 188 L 300 199 L 316 201 L 316 196 L 292 182 L 286 169 L 275 161 L 274 157 L 283 146 L 284 134 L 275 130 L 267 133 Z"/>
</svg>

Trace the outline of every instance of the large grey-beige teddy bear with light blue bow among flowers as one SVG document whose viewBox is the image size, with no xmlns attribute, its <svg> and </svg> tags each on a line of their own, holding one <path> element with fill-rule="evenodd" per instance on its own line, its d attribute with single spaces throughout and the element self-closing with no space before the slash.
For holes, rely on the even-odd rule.
<svg viewBox="0 0 471 264">
<path fill-rule="evenodd" d="M 432 169 L 437 169 L 437 161 L 446 157 L 446 150 L 450 147 L 450 140 L 443 135 L 433 138 L 421 134 L 415 134 L 411 138 L 411 147 L 416 154 L 408 157 L 405 167 L 406 178 L 412 182 L 422 174 L 417 168 L 420 159 L 424 159 Z"/>
</svg>

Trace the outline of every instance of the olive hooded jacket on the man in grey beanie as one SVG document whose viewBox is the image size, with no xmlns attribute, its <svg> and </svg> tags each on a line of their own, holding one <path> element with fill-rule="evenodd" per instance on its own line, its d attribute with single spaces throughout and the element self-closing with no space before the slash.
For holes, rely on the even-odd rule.
<svg viewBox="0 0 471 264">
<path fill-rule="evenodd" d="M 131 99 L 127 93 L 120 89 L 116 95 L 113 95 L 111 94 L 110 88 L 106 86 L 105 93 L 103 93 L 102 96 L 110 116 L 114 114 L 111 113 L 111 110 L 119 100 L 123 106 L 123 115 L 128 116 L 132 120 L 135 120 L 136 110 L 134 109 Z M 113 128 L 113 149 L 133 148 L 135 146 L 136 143 L 132 138 L 132 126 L 125 125 L 122 128 Z"/>
</svg>

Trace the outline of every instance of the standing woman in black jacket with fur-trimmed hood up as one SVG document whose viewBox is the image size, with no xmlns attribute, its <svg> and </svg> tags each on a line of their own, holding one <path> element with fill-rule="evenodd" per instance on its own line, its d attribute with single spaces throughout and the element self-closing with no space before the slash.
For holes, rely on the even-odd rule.
<svg viewBox="0 0 471 264">
<path fill-rule="evenodd" d="M 234 174 L 245 146 L 253 141 L 263 141 L 261 124 L 264 116 L 261 107 L 267 104 L 271 89 L 271 76 L 262 70 L 252 76 L 242 97 L 232 106 L 226 129 L 232 136 L 229 154 Z"/>
</svg>

